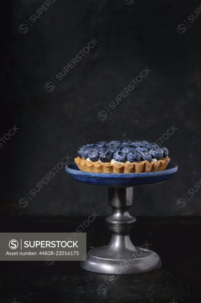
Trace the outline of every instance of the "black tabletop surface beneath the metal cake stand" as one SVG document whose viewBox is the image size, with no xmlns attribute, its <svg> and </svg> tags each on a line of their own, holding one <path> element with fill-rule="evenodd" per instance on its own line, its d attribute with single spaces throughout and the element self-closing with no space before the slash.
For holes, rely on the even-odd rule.
<svg viewBox="0 0 201 303">
<path fill-rule="evenodd" d="M 1 232 L 74 232 L 86 217 L 4 217 Z M 106 245 L 110 231 L 103 217 L 88 227 L 87 249 Z M 148 242 L 161 257 L 156 271 L 120 275 L 91 273 L 78 261 L 2 261 L 1 302 L 201 302 L 201 218 L 138 217 L 135 245 Z M 100 292 L 98 287 L 101 286 Z"/>
</svg>

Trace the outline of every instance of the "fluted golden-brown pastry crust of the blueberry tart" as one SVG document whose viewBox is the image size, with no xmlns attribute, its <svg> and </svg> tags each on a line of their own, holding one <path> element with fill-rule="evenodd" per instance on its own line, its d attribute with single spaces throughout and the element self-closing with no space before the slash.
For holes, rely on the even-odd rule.
<svg viewBox="0 0 201 303">
<path fill-rule="evenodd" d="M 133 163 L 101 163 L 99 161 L 92 162 L 82 159 L 80 157 L 75 158 L 75 163 L 81 171 L 90 172 L 104 172 L 104 173 L 140 173 L 150 171 L 163 171 L 168 165 L 170 158 L 162 158 L 157 162 L 133 162 Z"/>
</svg>

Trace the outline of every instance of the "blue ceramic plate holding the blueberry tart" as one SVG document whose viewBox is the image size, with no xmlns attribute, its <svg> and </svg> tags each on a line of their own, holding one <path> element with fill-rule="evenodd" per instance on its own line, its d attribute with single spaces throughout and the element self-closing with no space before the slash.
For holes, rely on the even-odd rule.
<svg viewBox="0 0 201 303">
<path fill-rule="evenodd" d="M 164 171 L 131 174 L 109 174 L 80 171 L 75 162 L 66 165 L 65 170 L 77 181 L 100 186 L 134 186 L 167 181 L 176 171 L 177 165 L 169 163 Z"/>
</svg>

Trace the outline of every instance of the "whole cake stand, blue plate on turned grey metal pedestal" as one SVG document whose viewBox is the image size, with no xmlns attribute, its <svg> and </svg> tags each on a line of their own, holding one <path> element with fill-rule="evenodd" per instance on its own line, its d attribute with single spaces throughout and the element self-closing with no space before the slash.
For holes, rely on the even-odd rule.
<svg viewBox="0 0 201 303">
<path fill-rule="evenodd" d="M 133 186 L 167 181 L 177 171 L 177 165 L 169 163 L 164 171 L 133 174 L 80 171 L 75 162 L 66 165 L 65 169 L 78 181 L 107 186 L 109 205 L 113 208 L 113 214 L 105 219 L 112 231 L 110 243 L 91 249 L 86 261 L 81 261 L 81 267 L 110 275 L 142 273 L 160 268 L 161 259 L 154 251 L 132 244 L 129 232 L 136 218 L 128 210 L 132 205 Z"/>
</svg>

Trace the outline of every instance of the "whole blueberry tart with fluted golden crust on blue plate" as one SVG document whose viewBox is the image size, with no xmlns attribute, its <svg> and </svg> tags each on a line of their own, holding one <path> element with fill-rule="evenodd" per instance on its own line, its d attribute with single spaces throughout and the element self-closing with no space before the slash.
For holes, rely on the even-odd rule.
<svg viewBox="0 0 201 303">
<path fill-rule="evenodd" d="M 162 171 L 170 161 L 168 149 L 148 141 L 113 140 L 87 144 L 78 149 L 75 163 L 82 171 L 141 173 Z"/>
</svg>

